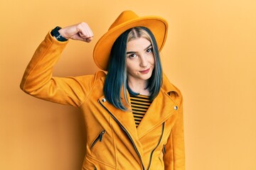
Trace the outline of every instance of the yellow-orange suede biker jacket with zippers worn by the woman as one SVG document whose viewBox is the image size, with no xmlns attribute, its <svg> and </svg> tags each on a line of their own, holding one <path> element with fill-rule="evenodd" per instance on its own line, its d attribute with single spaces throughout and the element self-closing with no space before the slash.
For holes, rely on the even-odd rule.
<svg viewBox="0 0 256 170">
<path fill-rule="evenodd" d="M 105 100 L 104 72 L 52 77 L 67 43 L 48 33 L 26 68 L 21 89 L 46 101 L 80 108 L 87 139 L 82 169 L 184 170 L 181 92 L 164 77 L 159 95 L 136 128 L 131 111 L 121 111 Z"/>
</svg>

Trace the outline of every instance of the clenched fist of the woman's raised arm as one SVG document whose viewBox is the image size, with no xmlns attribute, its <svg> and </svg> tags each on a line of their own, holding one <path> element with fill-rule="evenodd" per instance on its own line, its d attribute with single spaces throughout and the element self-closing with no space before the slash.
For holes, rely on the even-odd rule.
<svg viewBox="0 0 256 170">
<path fill-rule="evenodd" d="M 78 23 L 73 26 L 67 26 L 58 30 L 60 35 L 66 39 L 81 40 L 90 42 L 93 38 L 93 33 L 87 23 Z"/>
</svg>

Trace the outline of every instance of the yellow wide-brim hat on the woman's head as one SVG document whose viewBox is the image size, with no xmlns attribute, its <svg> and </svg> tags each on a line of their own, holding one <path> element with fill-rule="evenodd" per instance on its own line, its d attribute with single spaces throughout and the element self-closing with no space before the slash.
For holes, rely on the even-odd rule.
<svg viewBox="0 0 256 170">
<path fill-rule="evenodd" d="M 107 33 L 97 41 L 93 50 L 93 59 L 97 67 L 107 71 L 110 52 L 114 41 L 124 31 L 134 27 L 146 27 L 151 30 L 156 38 L 159 51 L 164 47 L 168 32 L 168 23 L 159 16 L 137 16 L 133 11 L 123 11 L 112 23 Z"/>
</svg>

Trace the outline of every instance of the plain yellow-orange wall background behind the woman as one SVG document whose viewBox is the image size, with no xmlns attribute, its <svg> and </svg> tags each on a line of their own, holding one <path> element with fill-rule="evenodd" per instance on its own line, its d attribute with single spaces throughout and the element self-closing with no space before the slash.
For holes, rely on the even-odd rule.
<svg viewBox="0 0 256 170">
<path fill-rule="evenodd" d="M 95 43 L 126 9 L 169 22 L 161 55 L 184 96 L 187 169 L 255 170 L 255 0 L 1 1 L 0 169 L 80 169 L 85 132 L 78 109 L 28 96 L 19 83 L 48 30 L 81 21 L 95 39 L 71 41 L 54 74 L 93 74 Z"/>
</svg>

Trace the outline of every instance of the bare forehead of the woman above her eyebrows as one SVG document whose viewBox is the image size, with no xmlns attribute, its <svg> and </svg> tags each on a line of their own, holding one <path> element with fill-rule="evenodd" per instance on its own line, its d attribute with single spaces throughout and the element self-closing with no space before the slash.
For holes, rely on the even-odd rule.
<svg viewBox="0 0 256 170">
<path fill-rule="evenodd" d="M 151 42 L 146 38 L 137 38 L 127 42 L 127 51 L 129 50 L 145 50 L 146 47 L 149 47 Z"/>
</svg>

